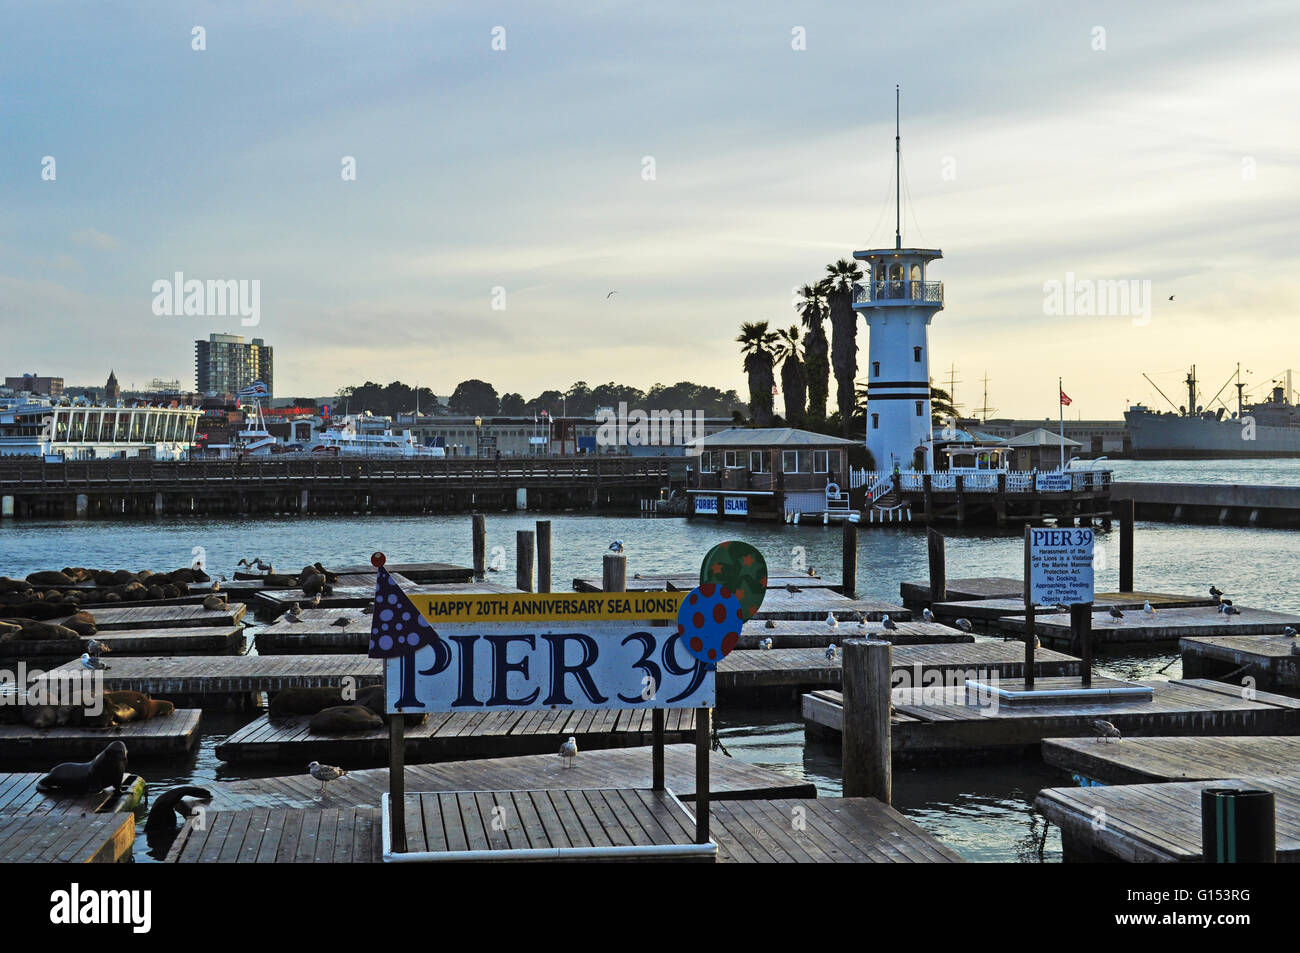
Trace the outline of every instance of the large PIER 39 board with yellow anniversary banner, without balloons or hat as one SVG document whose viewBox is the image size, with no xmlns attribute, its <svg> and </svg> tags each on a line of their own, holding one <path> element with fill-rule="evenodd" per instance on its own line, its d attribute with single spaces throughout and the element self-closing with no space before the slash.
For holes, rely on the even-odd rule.
<svg viewBox="0 0 1300 953">
<path fill-rule="evenodd" d="M 712 707 L 715 672 L 677 634 L 685 595 L 410 593 L 437 636 L 386 659 L 386 709 Z"/>
</svg>

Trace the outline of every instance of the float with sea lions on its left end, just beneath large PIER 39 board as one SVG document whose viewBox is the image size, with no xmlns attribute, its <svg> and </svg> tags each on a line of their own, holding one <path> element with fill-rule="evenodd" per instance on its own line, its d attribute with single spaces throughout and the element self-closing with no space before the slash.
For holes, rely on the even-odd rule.
<svg viewBox="0 0 1300 953">
<path fill-rule="evenodd" d="M 312 735 L 307 716 L 255 719 L 217 745 L 217 757 L 228 762 L 286 761 L 307 764 L 320 761 L 344 767 L 382 764 L 389 758 L 389 729 L 350 735 Z M 664 741 L 694 741 L 696 712 L 673 709 L 664 712 Z M 500 758 L 514 754 L 555 754 L 564 738 L 573 736 L 580 751 L 603 748 L 649 745 L 650 709 L 608 711 L 494 711 L 432 714 L 417 728 L 406 729 L 407 763 L 442 762 L 456 758 Z"/>
</svg>

